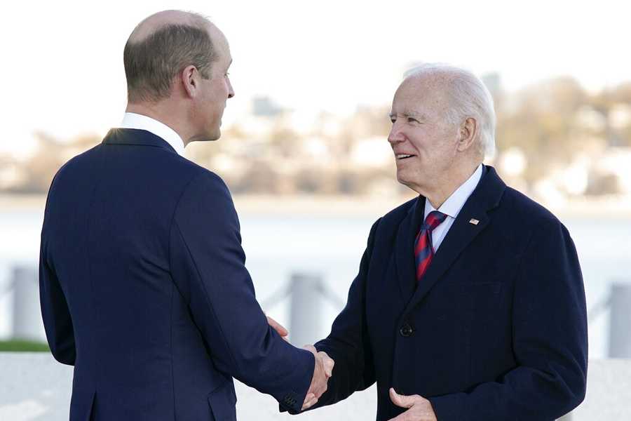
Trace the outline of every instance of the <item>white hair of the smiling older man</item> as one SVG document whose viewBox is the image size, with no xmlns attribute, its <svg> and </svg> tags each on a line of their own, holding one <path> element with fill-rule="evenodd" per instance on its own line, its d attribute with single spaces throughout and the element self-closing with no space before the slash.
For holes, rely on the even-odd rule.
<svg viewBox="0 0 631 421">
<path fill-rule="evenodd" d="M 445 93 L 451 102 L 447 121 L 460 125 L 473 118 L 480 130 L 479 147 L 485 156 L 495 153 L 495 109 L 493 97 L 482 80 L 472 72 L 440 63 L 426 63 L 405 72 L 405 79 L 416 76 L 445 76 Z"/>
</svg>

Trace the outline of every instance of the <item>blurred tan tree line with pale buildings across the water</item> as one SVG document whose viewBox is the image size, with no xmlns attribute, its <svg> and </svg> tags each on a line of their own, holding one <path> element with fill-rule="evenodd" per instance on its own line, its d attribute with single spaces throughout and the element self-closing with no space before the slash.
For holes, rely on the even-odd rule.
<svg viewBox="0 0 631 421">
<path fill-rule="evenodd" d="M 509 181 L 525 189 L 577 156 L 595 159 L 612 148 L 631 148 L 631 83 L 590 93 L 562 77 L 510 94 L 494 86 L 491 93 L 498 120 L 495 161 L 520 151 L 524 168 L 513 173 L 518 180 Z M 219 142 L 191 144 L 186 154 L 222 175 L 235 193 L 399 194 L 405 187 L 395 182 L 388 113 L 389 105 L 361 107 L 341 119 L 322 113 L 307 128 L 290 112 L 244 116 Z M 37 133 L 36 138 L 39 147 L 24 161 L 0 156 L 0 191 L 46 192 L 63 163 L 101 142 L 95 135 L 62 141 Z M 585 193 L 615 193 L 612 174 L 590 175 Z"/>
</svg>

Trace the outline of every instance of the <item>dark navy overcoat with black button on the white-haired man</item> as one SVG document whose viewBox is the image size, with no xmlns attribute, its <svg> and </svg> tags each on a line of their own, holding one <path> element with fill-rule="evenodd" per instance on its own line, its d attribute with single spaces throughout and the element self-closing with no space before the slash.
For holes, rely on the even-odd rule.
<svg viewBox="0 0 631 421">
<path fill-rule="evenodd" d="M 440 421 L 554 420 L 585 396 L 581 268 L 565 227 L 485 167 L 416 286 L 425 199 L 373 225 L 346 307 L 315 347 L 335 361 L 316 406 L 377 384 L 377 420 L 419 394 Z M 477 225 L 470 223 L 475 218 Z"/>
</svg>

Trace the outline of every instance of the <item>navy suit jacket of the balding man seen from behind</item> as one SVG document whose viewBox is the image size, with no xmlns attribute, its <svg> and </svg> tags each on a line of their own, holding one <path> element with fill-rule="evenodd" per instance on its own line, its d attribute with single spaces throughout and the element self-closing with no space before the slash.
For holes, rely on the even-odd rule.
<svg viewBox="0 0 631 421">
<path fill-rule="evenodd" d="M 235 420 L 232 377 L 299 410 L 310 352 L 269 328 L 217 175 L 147 131 L 113 129 L 55 175 L 40 293 L 70 420 Z"/>
</svg>

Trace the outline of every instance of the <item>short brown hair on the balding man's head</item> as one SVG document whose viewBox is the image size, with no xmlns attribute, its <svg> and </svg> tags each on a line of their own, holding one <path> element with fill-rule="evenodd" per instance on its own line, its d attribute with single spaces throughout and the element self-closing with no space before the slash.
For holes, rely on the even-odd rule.
<svg viewBox="0 0 631 421">
<path fill-rule="evenodd" d="M 123 51 L 128 101 L 168 98 L 173 78 L 189 65 L 209 79 L 215 60 L 217 53 L 204 25 L 165 25 L 140 41 L 130 36 Z"/>
</svg>

